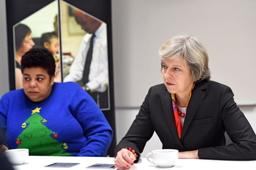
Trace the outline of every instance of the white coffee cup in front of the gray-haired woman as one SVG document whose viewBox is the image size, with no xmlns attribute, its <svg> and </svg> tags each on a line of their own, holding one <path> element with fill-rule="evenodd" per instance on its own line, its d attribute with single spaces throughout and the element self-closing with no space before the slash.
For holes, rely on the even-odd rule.
<svg viewBox="0 0 256 170">
<path fill-rule="evenodd" d="M 178 160 L 178 150 L 176 149 L 157 149 L 146 154 L 147 160 L 160 168 L 174 166 Z"/>
</svg>

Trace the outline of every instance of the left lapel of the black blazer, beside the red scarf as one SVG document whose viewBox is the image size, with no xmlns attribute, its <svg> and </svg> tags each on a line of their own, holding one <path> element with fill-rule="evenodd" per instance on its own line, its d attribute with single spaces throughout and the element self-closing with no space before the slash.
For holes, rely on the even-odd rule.
<svg viewBox="0 0 256 170">
<path fill-rule="evenodd" d="M 174 111 L 172 108 L 171 94 L 167 91 L 167 89 L 161 95 L 161 102 L 164 110 L 164 115 L 169 125 L 170 131 L 172 132 L 172 135 L 174 136 L 178 145 L 180 145 L 180 147 L 183 148 L 181 140 L 178 138 L 178 134 L 177 134 L 177 129 L 176 129 L 175 120 L 174 120 Z"/>
</svg>

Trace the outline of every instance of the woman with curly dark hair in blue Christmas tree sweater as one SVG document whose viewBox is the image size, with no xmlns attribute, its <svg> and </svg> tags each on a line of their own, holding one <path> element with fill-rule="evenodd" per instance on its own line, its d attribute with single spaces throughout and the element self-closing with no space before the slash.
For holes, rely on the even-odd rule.
<svg viewBox="0 0 256 170">
<path fill-rule="evenodd" d="M 0 100 L 0 128 L 7 149 L 30 155 L 104 157 L 112 129 L 95 101 L 79 85 L 54 82 L 55 61 L 44 49 L 22 56 L 23 89 Z"/>
</svg>

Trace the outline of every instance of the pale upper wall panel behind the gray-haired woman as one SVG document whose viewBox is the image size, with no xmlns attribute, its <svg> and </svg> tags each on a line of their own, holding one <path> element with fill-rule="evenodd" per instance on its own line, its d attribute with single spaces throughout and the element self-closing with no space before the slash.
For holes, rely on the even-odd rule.
<svg viewBox="0 0 256 170">
<path fill-rule="evenodd" d="M 182 33 L 206 45 L 212 80 L 230 86 L 238 104 L 256 104 L 255 0 L 112 2 L 116 106 L 138 106 L 163 82 L 158 49 Z"/>
</svg>

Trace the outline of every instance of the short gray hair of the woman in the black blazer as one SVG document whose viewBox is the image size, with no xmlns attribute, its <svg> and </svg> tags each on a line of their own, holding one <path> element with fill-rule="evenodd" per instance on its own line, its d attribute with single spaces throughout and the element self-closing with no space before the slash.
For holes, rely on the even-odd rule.
<svg viewBox="0 0 256 170">
<path fill-rule="evenodd" d="M 209 57 L 204 44 L 192 35 L 177 35 L 168 40 L 159 49 L 161 65 L 164 60 L 181 57 L 191 70 L 193 81 L 209 80 Z"/>
</svg>

